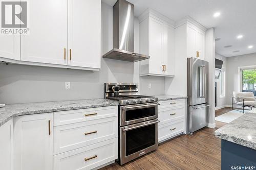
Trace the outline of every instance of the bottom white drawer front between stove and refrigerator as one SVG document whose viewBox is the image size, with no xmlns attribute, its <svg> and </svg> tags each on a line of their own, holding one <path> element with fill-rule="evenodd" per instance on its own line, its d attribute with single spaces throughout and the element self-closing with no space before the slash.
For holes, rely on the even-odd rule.
<svg viewBox="0 0 256 170">
<path fill-rule="evenodd" d="M 185 121 L 178 120 L 176 122 L 159 125 L 158 127 L 158 142 L 167 138 L 173 137 L 185 131 Z"/>
</svg>

